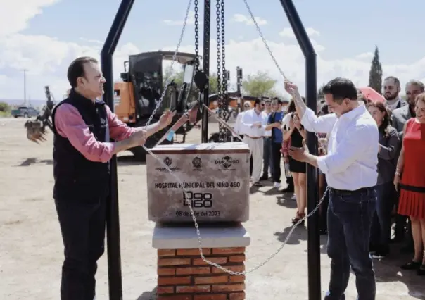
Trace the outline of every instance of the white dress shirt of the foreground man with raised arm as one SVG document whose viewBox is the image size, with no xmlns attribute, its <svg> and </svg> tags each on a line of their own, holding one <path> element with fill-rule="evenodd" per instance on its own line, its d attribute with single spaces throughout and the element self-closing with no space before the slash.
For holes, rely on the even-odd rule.
<svg viewBox="0 0 425 300">
<path fill-rule="evenodd" d="M 340 118 L 334 113 L 318 118 L 307 108 L 301 124 L 310 132 L 329 132 L 328 152 L 317 158 L 329 187 L 354 191 L 376 185 L 379 132 L 366 106 Z"/>
</svg>

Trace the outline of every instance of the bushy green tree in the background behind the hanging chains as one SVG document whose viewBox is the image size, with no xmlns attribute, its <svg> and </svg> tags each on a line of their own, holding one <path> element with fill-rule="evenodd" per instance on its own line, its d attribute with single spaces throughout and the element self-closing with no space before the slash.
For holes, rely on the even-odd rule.
<svg viewBox="0 0 425 300">
<path fill-rule="evenodd" d="M 274 85 L 277 80 L 272 79 L 265 72 L 258 71 L 255 75 L 248 75 L 247 80 L 243 80 L 242 87 L 245 94 L 249 96 L 279 96 Z"/>
</svg>

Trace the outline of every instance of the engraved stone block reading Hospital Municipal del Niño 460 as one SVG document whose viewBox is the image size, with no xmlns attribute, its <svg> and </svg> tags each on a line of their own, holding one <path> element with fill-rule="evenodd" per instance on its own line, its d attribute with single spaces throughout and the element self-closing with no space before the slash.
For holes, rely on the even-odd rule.
<svg viewBox="0 0 425 300">
<path fill-rule="evenodd" d="M 200 222 L 249 218 L 249 148 L 243 142 L 160 145 L 148 154 L 148 218 L 191 222 L 186 201 Z M 177 175 L 177 180 L 165 167 Z M 186 189 L 186 194 L 182 189 Z"/>
</svg>

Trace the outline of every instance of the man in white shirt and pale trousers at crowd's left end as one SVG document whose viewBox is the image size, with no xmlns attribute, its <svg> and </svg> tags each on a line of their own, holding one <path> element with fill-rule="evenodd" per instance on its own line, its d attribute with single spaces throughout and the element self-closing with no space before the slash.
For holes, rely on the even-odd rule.
<svg viewBox="0 0 425 300">
<path fill-rule="evenodd" d="M 262 168 L 262 154 L 265 128 L 267 127 L 267 115 L 263 110 L 262 101 L 255 100 L 253 109 L 243 113 L 239 130 L 243 134 L 243 142 L 248 144 L 250 153 L 253 156 L 253 185 L 260 187 L 260 176 Z"/>
</svg>

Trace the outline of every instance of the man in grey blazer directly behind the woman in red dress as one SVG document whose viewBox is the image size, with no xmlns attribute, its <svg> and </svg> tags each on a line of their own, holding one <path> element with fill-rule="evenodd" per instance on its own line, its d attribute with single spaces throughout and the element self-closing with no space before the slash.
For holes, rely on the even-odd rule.
<svg viewBox="0 0 425 300">
<path fill-rule="evenodd" d="M 410 118 L 414 118 L 414 99 L 418 94 L 421 94 L 425 91 L 425 85 L 419 80 L 410 80 L 406 84 L 406 97 L 407 105 L 401 106 L 400 108 L 395 108 L 393 113 L 391 113 L 391 123 L 393 127 L 398 131 L 398 136 L 402 142 L 403 138 L 403 127 L 405 123 Z M 401 149 L 401 147 L 400 147 Z M 400 150 L 395 155 L 395 162 L 398 161 L 398 156 L 400 156 Z M 395 227 L 394 233 L 395 237 L 392 242 L 402 242 L 405 235 L 405 227 L 407 217 L 404 215 L 397 215 L 395 218 Z M 402 251 L 411 251 L 413 249 L 413 239 L 410 224 L 407 225 L 407 244 L 402 248 Z"/>
</svg>

